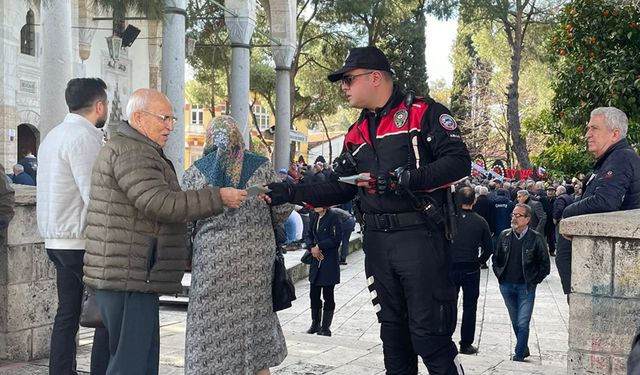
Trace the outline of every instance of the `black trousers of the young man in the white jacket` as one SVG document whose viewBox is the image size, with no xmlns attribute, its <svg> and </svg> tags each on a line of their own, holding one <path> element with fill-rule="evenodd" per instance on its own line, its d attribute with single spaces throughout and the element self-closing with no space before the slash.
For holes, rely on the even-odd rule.
<svg viewBox="0 0 640 375">
<path fill-rule="evenodd" d="M 56 267 L 58 310 L 51 332 L 50 375 L 76 375 L 76 335 L 82 305 L 82 266 L 84 250 L 47 249 Z M 104 375 L 109 363 L 109 337 L 104 328 L 96 328 L 91 350 L 91 374 Z"/>
</svg>

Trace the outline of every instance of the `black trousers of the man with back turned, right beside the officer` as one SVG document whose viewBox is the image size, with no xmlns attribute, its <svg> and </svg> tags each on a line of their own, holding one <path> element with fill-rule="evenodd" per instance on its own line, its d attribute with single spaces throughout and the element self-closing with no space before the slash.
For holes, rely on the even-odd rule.
<svg viewBox="0 0 640 375">
<path fill-rule="evenodd" d="M 459 269 L 451 272 L 456 285 L 456 294 L 462 288 L 462 326 L 460 327 L 460 347 L 473 344 L 476 334 L 476 311 L 480 296 L 480 269 Z"/>
</svg>

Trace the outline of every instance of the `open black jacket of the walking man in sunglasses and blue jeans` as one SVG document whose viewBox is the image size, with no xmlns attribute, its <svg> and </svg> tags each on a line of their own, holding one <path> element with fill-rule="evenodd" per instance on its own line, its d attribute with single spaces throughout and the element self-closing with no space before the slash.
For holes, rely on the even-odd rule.
<svg viewBox="0 0 640 375">
<path fill-rule="evenodd" d="M 493 252 L 493 272 L 498 280 L 507 267 L 511 250 L 512 229 L 500 233 Z M 522 272 L 527 286 L 539 284 L 549 274 L 549 251 L 542 235 L 533 229 L 527 230 L 522 239 Z"/>
</svg>

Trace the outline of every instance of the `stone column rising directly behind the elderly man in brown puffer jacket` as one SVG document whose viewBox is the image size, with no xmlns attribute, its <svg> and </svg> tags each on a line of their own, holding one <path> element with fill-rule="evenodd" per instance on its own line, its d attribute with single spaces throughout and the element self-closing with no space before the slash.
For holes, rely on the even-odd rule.
<svg viewBox="0 0 640 375">
<path fill-rule="evenodd" d="M 173 115 L 178 119 L 164 146 L 164 152 L 176 169 L 178 180 L 184 174 L 184 39 L 186 0 L 165 0 L 162 28 L 162 92 L 169 97 Z"/>
</svg>

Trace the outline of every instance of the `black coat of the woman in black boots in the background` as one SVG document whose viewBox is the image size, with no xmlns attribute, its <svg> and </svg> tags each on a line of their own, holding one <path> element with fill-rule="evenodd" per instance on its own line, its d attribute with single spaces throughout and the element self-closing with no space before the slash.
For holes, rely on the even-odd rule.
<svg viewBox="0 0 640 375">
<path fill-rule="evenodd" d="M 320 223 L 318 224 L 318 220 Z M 339 248 L 342 241 L 340 216 L 329 208 L 322 218 L 311 213 L 309 235 L 306 239 L 307 249 L 318 245 L 324 260 L 313 258 L 309 269 L 309 282 L 315 286 L 331 286 L 340 283 Z"/>
</svg>

